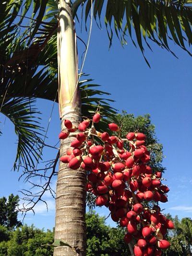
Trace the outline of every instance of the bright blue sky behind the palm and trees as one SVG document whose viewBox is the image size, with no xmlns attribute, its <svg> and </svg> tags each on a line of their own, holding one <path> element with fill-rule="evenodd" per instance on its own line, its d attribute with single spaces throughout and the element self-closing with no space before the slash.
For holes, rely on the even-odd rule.
<svg viewBox="0 0 192 256">
<path fill-rule="evenodd" d="M 77 24 L 77 33 L 79 25 Z M 86 43 L 88 34 L 79 34 Z M 152 45 L 153 52 L 145 49 L 145 56 L 151 65 L 147 66 L 139 49 L 128 40 L 128 46 L 121 47 L 114 36 L 112 48 L 108 50 L 108 37 L 105 30 L 99 30 L 94 23 L 90 45 L 84 64 L 84 73 L 89 73 L 94 83 L 102 85 L 101 90 L 111 93 L 116 100 L 111 106 L 120 112 L 151 115 L 156 126 L 156 136 L 164 147 L 163 165 L 167 168 L 164 182 L 168 185 L 168 203 L 162 204 L 164 213 L 179 218 L 192 218 L 192 59 L 179 47 L 171 44 L 176 59 L 168 51 Z M 84 47 L 78 41 L 79 59 Z M 81 61 L 79 61 L 81 62 Z M 38 100 L 37 107 L 42 112 L 42 124 L 47 128 L 53 103 Z M 18 182 L 21 173 L 10 171 L 16 153 L 16 135 L 8 119 L 0 114 L 1 139 L 1 180 L 0 197 L 18 194 L 28 189 L 29 184 Z M 58 142 L 60 120 L 58 105 L 55 104 L 45 143 L 55 145 Z M 46 160 L 54 158 L 57 150 L 45 150 Z M 39 182 L 39 181 L 37 181 Z M 56 180 L 53 180 L 53 187 Z M 22 196 L 19 193 L 20 196 Z M 35 216 L 28 213 L 24 223 L 34 223 L 38 228 L 52 229 L 54 226 L 54 200 L 47 193 L 48 212 L 43 204 L 36 207 Z M 100 215 L 108 215 L 105 207 L 97 210 Z M 22 217 L 21 217 L 22 218 Z M 110 220 L 108 223 L 112 224 Z"/>
</svg>

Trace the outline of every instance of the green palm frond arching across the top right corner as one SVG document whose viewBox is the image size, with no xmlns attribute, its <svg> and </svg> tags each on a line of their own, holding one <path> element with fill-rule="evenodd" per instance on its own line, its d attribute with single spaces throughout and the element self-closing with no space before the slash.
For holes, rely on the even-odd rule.
<svg viewBox="0 0 192 256">
<path fill-rule="evenodd" d="M 192 44 L 191 0 L 76 0 L 72 6 L 73 14 L 76 15 L 79 6 L 85 6 L 85 24 L 91 2 L 95 20 L 101 24 L 105 17 L 110 46 L 115 32 L 122 45 L 127 44 L 129 35 L 135 46 L 137 42 L 143 55 L 144 42 L 151 49 L 147 38 L 173 53 L 169 47 L 171 39 L 192 55 L 186 46 L 186 43 Z"/>
</svg>

